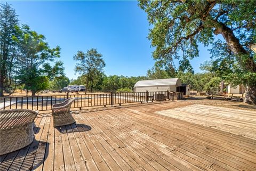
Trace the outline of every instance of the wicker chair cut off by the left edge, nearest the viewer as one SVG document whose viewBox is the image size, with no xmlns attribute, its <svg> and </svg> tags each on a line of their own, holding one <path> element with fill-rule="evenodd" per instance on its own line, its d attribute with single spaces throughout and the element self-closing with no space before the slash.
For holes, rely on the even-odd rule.
<svg viewBox="0 0 256 171">
<path fill-rule="evenodd" d="M 38 111 L 9 109 L 0 112 L 0 155 L 19 150 L 34 140 Z"/>
</svg>

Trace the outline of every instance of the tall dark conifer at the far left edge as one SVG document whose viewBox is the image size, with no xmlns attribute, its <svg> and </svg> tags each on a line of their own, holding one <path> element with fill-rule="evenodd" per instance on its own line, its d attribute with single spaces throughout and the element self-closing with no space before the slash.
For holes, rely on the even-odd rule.
<svg viewBox="0 0 256 171">
<path fill-rule="evenodd" d="M 14 89 L 15 72 L 14 57 L 17 55 L 16 42 L 17 36 L 15 27 L 18 25 L 18 18 L 15 10 L 9 4 L 0 6 L 0 96 L 3 91 L 10 92 Z"/>
</svg>

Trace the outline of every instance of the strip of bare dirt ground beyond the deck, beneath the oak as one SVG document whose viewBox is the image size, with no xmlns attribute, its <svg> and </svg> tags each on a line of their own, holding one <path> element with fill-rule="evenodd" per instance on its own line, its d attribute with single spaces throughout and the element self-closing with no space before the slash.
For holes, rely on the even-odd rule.
<svg viewBox="0 0 256 171">
<path fill-rule="evenodd" d="M 246 104 L 246 103 L 235 101 L 235 100 L 206 99 L 206 96 L 190 96 L 190 97 L 186 97 L 184 101 L 193 103 L 193 104 L 205 104 L 205 105 L 214 105 L 217 107 L 256 110 L 256 105 L 253 105 L 253 104 Z"/>
</svg>

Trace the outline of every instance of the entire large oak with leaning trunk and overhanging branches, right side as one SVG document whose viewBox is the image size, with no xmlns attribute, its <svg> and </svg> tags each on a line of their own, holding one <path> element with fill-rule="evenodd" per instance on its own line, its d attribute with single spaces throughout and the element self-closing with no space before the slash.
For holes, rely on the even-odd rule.
<svg viewBox="0 0 256 171">
<path fill-rule="evenodd" d="M 246 86 L 246 102 L 256 103 L 256 58 L 247 47 L 256 42 L 256 1 L 140 1 L 154 27 L 148 38 L 155 47 L 154 59 L 170 66 L 173 59 L 198 56 L 198 43 L 213 44 L 211 54 L 217 68 L 229 67 L 222 78 Z M 214 42 L 214 35 L 222 40 Z M 221 68 L 218 68 L 221 69 Z"/>
</svg>

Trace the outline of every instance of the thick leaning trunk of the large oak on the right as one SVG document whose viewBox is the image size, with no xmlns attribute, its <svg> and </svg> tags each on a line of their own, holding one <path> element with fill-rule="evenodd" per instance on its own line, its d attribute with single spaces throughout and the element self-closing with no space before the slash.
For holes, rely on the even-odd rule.
<svg viewBox="0 0 256 171">
<path fill-rule="evenodd" d="M 235 37 L 234 32 L 224 25 L 221 22 L 215 22 L 215 30 L 214 34 L 221 34 L 223 38 L 226 40 L 228 48 L 235 55 L 238 56 L 238 60 L 242 68 L 250 72 L 256 72 L 256 63 L 253 60 L 253 57 L 249 56 L 249 53 L 244 49 L 244 47 L 239 43 L 239 39 Z M 246 61 L 241 59 L 241 56 L 247 55 L 248 58 Z M 256 104 L 256 87 L 254 85 L 245 85 L 245 103 L 253 103 Z"/>
</svg>

